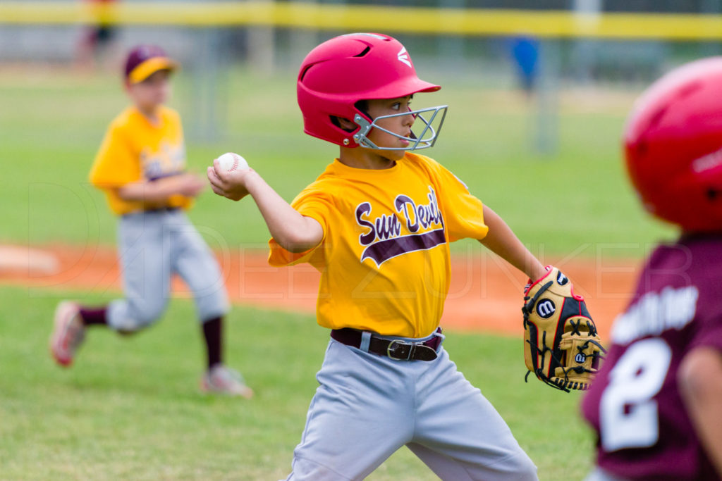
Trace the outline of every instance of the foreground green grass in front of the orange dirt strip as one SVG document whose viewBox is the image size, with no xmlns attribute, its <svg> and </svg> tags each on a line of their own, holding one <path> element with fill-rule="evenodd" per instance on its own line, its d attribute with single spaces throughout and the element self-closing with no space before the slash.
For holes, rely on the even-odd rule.
<svg viewBox="0 0 722 481">
<path fill-rule="evenodd" d="M 287 475 L 328 340 L 313 317 L 233 309 L 228 361 L 256 397 L 232 400 L 197 390 L 204 353 L 190 301 L 174 300 L 159 324 L 134 337 L 90 330 L 75 365 L 55 366 L 51 313 L 72 295 L 0 289 L 0 479 Z M 521 340 L 451 332 L 445 347 L 503 415 L 541 480 L 583 477 L 592 441 L 578 420 L 578 393 L 525 384 Z M 438 478 L 401 449 L 368 479 Z"/>
</svg>

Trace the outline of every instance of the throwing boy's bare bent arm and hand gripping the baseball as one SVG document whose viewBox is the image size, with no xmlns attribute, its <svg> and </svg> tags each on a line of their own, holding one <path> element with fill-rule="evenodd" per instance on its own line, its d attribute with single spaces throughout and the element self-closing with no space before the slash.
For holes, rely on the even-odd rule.
<svg viewBox="0 0 722 481">
<path fill-rule="evenodd" d="M 208 167 L 207 175 L 213 192 L 218 195 L 240 200 L 250 194 L 264 216 L 271 237 L 285 250 L 305 252 L 323 240 L 321 224 L 292 208 L 255 170 L 228 172 L 214 161 L 214 167 Z"/>
</svg>

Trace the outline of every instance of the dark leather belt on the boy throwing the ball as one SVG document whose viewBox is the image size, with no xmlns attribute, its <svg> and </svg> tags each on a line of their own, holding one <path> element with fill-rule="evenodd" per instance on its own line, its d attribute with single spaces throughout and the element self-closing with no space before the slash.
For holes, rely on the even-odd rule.
<svg viewBox="0 0 722 481">
<path fill-rule="evenodd" d="M 441 333 L 441 327 L 436 332 Z M 362 331 L 360 330 L 348 327 L 334 329 L 331 331 L 331 337 L 339 343 L 354 348 L 361 347 Z M 387 356 L 396 361 L 433 361 L 437 358 L 436 350 L 439 348 L 442 338 L 443 336 L 433 336 L 423 343 L 407 343 L 402 340 L 384 339 L 371 335 L 368 352 L 378 354 L 378 356 Z"/>
</svg>

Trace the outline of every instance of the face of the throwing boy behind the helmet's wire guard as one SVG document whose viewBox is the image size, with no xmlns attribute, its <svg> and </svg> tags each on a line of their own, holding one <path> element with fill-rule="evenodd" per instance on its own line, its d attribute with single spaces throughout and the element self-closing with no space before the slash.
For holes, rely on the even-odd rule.
<svg viewBox="0 0 722 481">
<path fill-rule="evenodd" d="M 411 109 L 409 108 L 409 105 L 411 104 L 411 98 L 411 95 L 407 95 L 406 97 L 399 97 L 396 99 L 367 100 L 367 113 L 371 116 L 371 118 L 378 119 L 383 115 L 410 112 Z M 411 135 L 411 127 L 414 125 L 414 120 L 413 115 L 399 115 L 398 117 L 379 119 L 376 124 L 379 127 L 386 128 L 386 130 L 397 133 L 400 136 L 409 137 Z M 380 149 L 383 149 L 384 147 L 404 148 L 409 146 L 409 141 L 392 136 L 378 128 L 372 128 L 368 133 L 367 138 Z M 396 152 L 399 153 L 399 158 L 404 156 L 403 150 Z"/>
</svg>

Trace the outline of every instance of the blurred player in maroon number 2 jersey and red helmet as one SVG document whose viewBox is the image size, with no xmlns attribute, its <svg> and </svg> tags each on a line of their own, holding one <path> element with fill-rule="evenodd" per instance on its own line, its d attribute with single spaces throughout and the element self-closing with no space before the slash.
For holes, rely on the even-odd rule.
<svg viewBox="0 0 722 481">
<path fill-rule="evenodd" d="M 679 226 L 646 260 L 582 402 L 589 481 L 722 479 L 722 57 L 653 84 L 625 128 L 645 208 Z"/>
</svg>

